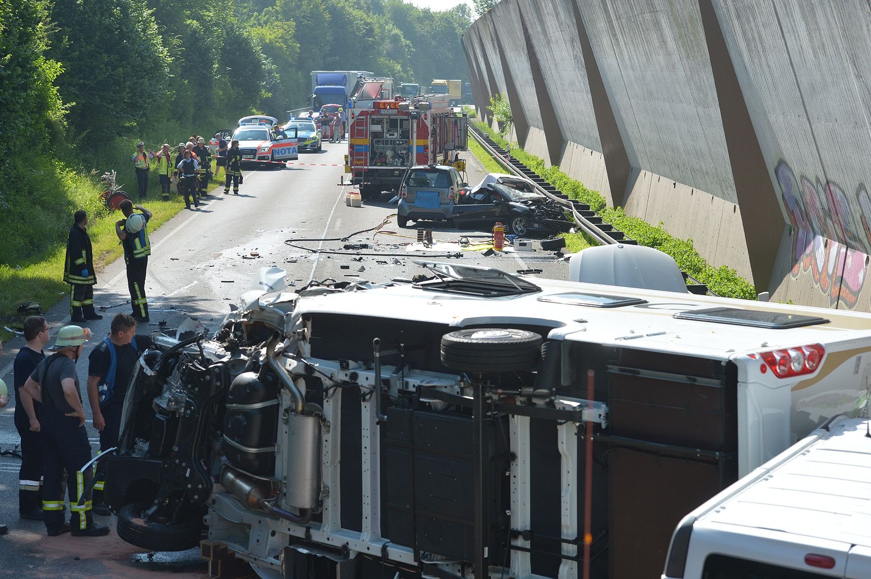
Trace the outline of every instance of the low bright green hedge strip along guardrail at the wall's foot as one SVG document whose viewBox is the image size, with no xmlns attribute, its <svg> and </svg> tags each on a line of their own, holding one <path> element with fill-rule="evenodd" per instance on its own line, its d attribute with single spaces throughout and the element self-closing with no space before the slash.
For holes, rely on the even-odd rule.
<svg viewBox="0 0 871 579">
<path fill-rule="evenodd" d="M 476 123 L 476 126 L 486 131 L 490 138 L 493 138 L 499 145 L 503 147 L 508 145 L 508 142 L 501 135 L 486 124 Z M 699 279 L 700 282 L 711 288 L 712 292 L 727 298 L 756 300 L 756 289 L 750 282 L 741 278 L 731 267 L 714 267 L 708 264 L 692 246 L 692 239 L 678 239 L 666 232 L 661 223 L 654 227 L 643 219 L 626 215 L 623 207 L 608 207 L 600 192 L 587 189 L 577 179 L 561 172 L 557 165 L 545 166 L 543 158 L 523 151 L 516 143 L 511 145 L 511 155 L 547 179 L 551 185 L 557 187 L 571 199 L 578 199 L 590 205 L 591 210 L 598 212 L 605 222 L 624 232 L 628 238 L 635 239 L 642 246 L 654 247 L 671 255 L 678 262 L 681 270 L 689 273 L 693 278 Z M 571 235 L 567 237 L 571 237 Z M 577 239 L 577 241 L 567 239 L 567 245 L 572 251 L 577 251 L 588 246 L 589 239 Z"/>
</svg>

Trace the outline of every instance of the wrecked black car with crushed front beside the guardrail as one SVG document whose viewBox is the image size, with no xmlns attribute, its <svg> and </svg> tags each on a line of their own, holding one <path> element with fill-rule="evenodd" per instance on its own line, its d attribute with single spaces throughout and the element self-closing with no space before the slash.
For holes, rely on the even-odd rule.
<svg viewBox="0 0 871 579">
<path fill-rule="evenodd" d="M 481 183 L 462 192 L 453 207 L 452 222 L 460 229 L 501 222 L 511 233 L 552 235 L 573 225 L 564 207 L 535 190 L 530 181 L 490 173 Z"/>
</svg>

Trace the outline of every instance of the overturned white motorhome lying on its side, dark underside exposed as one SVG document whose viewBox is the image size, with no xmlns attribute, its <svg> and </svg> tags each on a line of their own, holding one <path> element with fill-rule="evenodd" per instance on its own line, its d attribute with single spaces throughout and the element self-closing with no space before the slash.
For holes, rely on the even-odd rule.
<svg viewBox="0 0 871 579">
<path fill-rule="evenodd" d="M 658 576 L 686 513 L 868 394 L 868 314 L 418 263 L 264 269 L 216 332 L 154 334 L 118 535 L 285 579 Z"/>
</svg>

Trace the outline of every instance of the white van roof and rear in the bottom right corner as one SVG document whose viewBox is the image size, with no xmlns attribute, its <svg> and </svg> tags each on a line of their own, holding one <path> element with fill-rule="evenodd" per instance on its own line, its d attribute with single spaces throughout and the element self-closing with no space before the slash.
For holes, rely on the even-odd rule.
<svg viewBox="0 0 871 579">
<path fill-rule="evenodd" d="M 662 579 L 871 577 L 869 429 L 829 421 L 686 515 Z"/>
</svg>

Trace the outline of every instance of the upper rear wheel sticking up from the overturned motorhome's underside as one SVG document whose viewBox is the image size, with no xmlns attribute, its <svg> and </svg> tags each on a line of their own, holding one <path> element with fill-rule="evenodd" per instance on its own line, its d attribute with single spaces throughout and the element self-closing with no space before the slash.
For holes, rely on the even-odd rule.
<svg viewBox="0 0 871 579">
<path fill-rule="evenodd" d="M 442 364 L 463 372 L 534 370 L 542 337 L 527 330 L 491 327 L 442 336 Z"/>
</svg>

